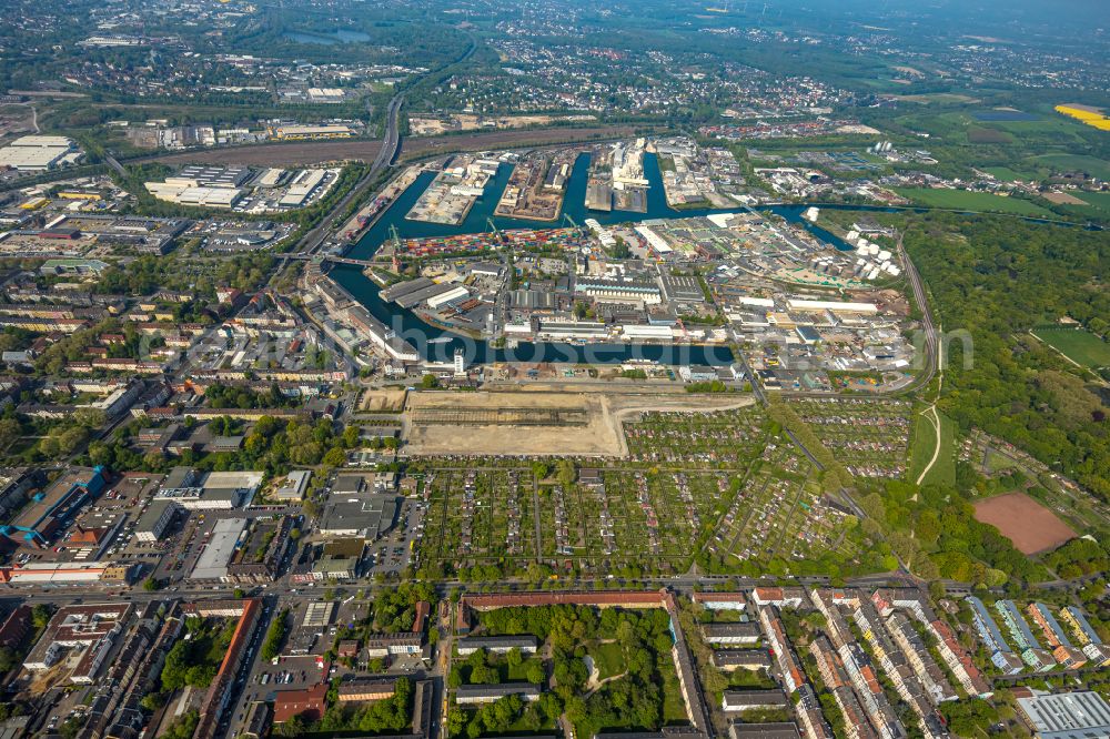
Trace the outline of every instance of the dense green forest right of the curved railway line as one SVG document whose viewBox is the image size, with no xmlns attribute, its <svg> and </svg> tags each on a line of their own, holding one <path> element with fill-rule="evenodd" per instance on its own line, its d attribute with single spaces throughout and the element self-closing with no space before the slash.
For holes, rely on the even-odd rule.
<svg viewBox="0 0 1110 739">
<path fill-rule="evenodd" d="M 900 225 L 944 337 L 952 338 L 939 408 L 961 432 L 999 436 L 1110 499 L 1110 377 L 1086 373 L 1028 333 L 1072 320 L 1106 340 L 1110 240 L 997 216 L 929 213 Z"/>
</svg>

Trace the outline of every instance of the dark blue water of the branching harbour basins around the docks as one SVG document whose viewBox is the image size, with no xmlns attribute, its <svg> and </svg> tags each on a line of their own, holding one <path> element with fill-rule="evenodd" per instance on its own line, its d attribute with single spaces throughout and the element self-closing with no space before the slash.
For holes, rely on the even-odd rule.
<svg viewBox="0 0 1110 739">
<path fill-rule="evenodd" d="M 644 155 L 644 176 L 650 183 L 647 192 L 647 211 L 630 213 L 625 211 L 586 210 L 586 181 L 588 179 L 589 155 L 582 154 L 575 161 L 574 170 L 567 182 L 566 198 L 563 202 L 563 213 L 569 215 L 575 223 L 582 225 L 586 219 L 595 219 L 602 225 L 647 221 L 652 219 L 692 217 L 709 213 L 737 212 L 740 209 L 724 210 L 682 210 L 676 211 L 667 205 L 663 189 L 663 174 L 655 154 Z M 423 172 L 416 181 L 403 192 L 377 222 L 351 249 L 347 256 L 370 259 L 390 239 L 390 227 L 396 226 L 402 239 L 422 236 L 450 236 L 464 233 L 482 233 L 490 231 L 488 220 L 493 217 L 494 209 L 508 182 L 512 166 L 502 164 L 497 175 L 486 186 L 485 194 L 471 209 L 466 220 L 458 225 L 423 223 L 405 220 L 405 214 L 421 196 L 424 190 L 435 179 L 434 172 Z M 834 244 L 837 249 L 850 249 L 824 229 L 813 226 L 801 219 L 805 205 L 776 205 L 769 210 L 781 215 L 791 223 L 803 223 L 816 236 Z M 567 225 L 563 216 L 558 221 L 522 221 L 515 219 L 493 217 L 498 229 L 552 229 Z M 726 346 L 710 345 L 664 345 L 664 344 L 567 344 L 553 342 L 519 343 L 513 348 L 496 348 L 488 342 L 474 340 L 433 326 L 411 311 L 394 303 L 384 302 L 379 295 L 379 286 L 362 274 L 359 267 L 335 265 L 331 275 L 345 287 L 359 302 L 366 306 L 374 317 L 393 328 L 397 335 L 416 347 L 421 356 L 428 362 L 451 362 L 456 348 L 466 353 L 467 364 L 493 362 L 556 362 L 586 364 L 619 364 L 629 360 L 646 360 L 669 365 L 713 365 L 731 364 L 735 360 Z"/>
</svg>

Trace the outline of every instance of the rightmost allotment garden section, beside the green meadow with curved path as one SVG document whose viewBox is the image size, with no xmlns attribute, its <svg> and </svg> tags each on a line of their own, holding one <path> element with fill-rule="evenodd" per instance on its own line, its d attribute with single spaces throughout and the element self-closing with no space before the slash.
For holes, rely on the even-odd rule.
<svg viewBox="0 0 1110 739">
<path fill-rule="evenodd" d="M 857 477 L 901 477 L 909 452 L 908 401 L 806 398 L 790 405 Z"/>
</svg>

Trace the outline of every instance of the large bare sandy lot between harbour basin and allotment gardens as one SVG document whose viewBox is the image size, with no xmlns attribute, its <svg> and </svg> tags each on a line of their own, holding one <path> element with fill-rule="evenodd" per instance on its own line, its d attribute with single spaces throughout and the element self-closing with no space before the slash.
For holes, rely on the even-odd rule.
<svg viewBox="0 0 1110 739">
<path fill-rule="evenodd" d="M 644 395 L 625 392 L 411 393 L 413 408 L 558 408 L 585 412 L 578 426 L 413 425 L 405 451 L 432 455 L 625 456 L 624 424 L 646 411 L 705 413 L 750 405 L 750 396 Z"/>
</svg>

